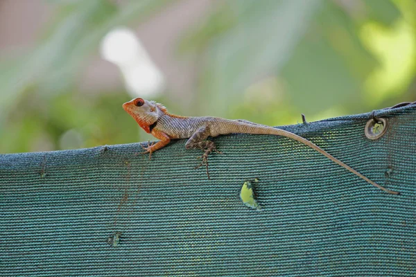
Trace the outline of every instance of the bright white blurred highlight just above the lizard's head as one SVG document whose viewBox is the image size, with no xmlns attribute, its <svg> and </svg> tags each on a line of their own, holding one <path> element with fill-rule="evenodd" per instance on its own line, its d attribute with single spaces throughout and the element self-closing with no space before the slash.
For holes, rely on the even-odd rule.
<svg viewBox="0 0 416 277">
<path fill-rule="evenodd" d="M 162 72 L 129 28 L 110 30 L 101 42 L 101 56 L 119 66 L 132 97 L 156 96 L 164 90 Z"/>
</svg>

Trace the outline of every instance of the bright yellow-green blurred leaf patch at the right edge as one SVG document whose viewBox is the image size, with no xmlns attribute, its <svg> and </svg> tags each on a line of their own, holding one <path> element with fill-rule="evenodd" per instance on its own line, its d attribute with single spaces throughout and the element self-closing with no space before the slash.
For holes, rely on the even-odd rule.
<svg viewBox="0 0 416 277">
<path fill-rule="evenodd" d="M 361 28 L 363 42 L 380 61 L 380 66 L 365 82 L 367 99 L 377 105 L 388 98 L 400 98 L 415 78 L 416 25 L 412 28 L 410 22 L 416 22 L 416 9 L 408 12 L 411 6 L 404 3 L 399 2 L 404 18 L 395 24 L 386 27 L 369 22 Z M 413 4 L 416 7 L 416 3 Z"/>
</svg>

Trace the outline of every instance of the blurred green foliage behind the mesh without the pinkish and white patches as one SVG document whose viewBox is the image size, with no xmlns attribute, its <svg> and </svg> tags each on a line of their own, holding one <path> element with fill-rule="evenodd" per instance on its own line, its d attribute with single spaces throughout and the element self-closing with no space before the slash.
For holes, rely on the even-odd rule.
<svg viewBox="0 0 416 277">
<path fill-rule="evenodd" d="M 0 63 L 1 153 L 58 150 L 62 136 L 67 148 L 147 140 L 121 109 L 125 91 L 89 95 L 77 85 L 108 30 L 175 5 L 122 2 L 47 1 L 55 17 L 43 39 Z M 156 99 L 177 113 L 281 125 L 416 100 L 413 0 L 213 3 L 173 46 L 199 64 L 191 108 L 173 102 L 180 91 Z"/>
</svg>

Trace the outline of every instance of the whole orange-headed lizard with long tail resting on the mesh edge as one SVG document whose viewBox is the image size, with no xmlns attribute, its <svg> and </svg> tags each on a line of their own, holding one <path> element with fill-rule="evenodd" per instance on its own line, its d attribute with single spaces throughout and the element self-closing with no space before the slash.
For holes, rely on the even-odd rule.
<svg viewBox="0 0 416 277">
<path fill-rule="evenodd" d="M 147 148 L 142 146 L 145 150 L 144 153 L 149 154 L 149 159 L 153 152 L 164 148 L 171 142 L 172 139 L 188 139 L 185 144 L 186 149 L 200 149 L 204 151 L 204 154 L 200 157 L 202 161 L 196 168 L 205 164 L 207 167 L 208 178 L 209 154 L 211 154 L 211 152 L 221 153 L 217 150 L 215 143 L 208 140 L 209 136 L 215 137 L 225 134 L 268 134 L 285 136 L 289 139 L 294 139 L 295 141 L 303 143 L 386 193 L 393 195 L 399 194 L 396 191 L 388 190 L 387 188 L 376 184 L 360 172 L 354 170 L 354 168 L 351 168 L 320 148 L 318 145 L 315 145 L 315 143 L 312 143 L 311 141 L 302 138 L 302 136 L 298 136 L 297 134 L 293 134 L 292 132 L 288 132 L 284 129 L 277 129 L 267 125 L 251 123 L 247 120 L 230 120 L 213 116 L 177 116 L 169 113 L 164 105 L 155 101 L 144 100 L 143 98 L 135 98 L 129 102 L 125 102 L 123 104 L 123 109 L 136 120 L 144 131 L 148 134 L 152 134 L 156 139 L 160 140 L 157 141 L 157 143 L 148 143 Z"/>
</svg>

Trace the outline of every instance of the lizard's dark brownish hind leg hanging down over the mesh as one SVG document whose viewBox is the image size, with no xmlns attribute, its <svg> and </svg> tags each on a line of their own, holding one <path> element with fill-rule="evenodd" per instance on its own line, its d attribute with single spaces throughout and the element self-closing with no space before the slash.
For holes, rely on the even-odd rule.
<svg viewBox="0 0 416 277">
<path fill-rule="evenodd" d="M 200 159 L 202 159 L 200 165 L 196 168 L 200 168 L 200 166 L 203 166 L 205 164 L 207 168 L 208 179 L 208 155 L 211 154 L 211 152 L 213 151 L 220 153 L 218 150 L 216 150 L 215 143 L 207 140 L 210 134 L 211 132 L 209 131 L 209 126 L 202 126 L 191 136 L 191 138 L 189 138 L 189 140 L 185 144 L 185 148 L 187 149 L 200 149 L 205 151 L 204 154 L 202 154 L 202 156 L 200 157 Z"/>
</svg>

